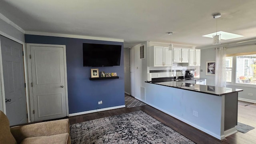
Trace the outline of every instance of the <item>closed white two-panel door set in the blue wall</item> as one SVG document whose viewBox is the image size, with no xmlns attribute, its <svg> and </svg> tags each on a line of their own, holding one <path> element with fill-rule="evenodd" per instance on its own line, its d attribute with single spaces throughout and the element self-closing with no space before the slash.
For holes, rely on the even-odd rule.
<svg viewBox="0 0 256 144">
<path fill-rule="evenodd" d="M 31 54 L 34 121 L 65 117 L 66 92 L 64 47 L 29 46 Z"/>
</svg>

